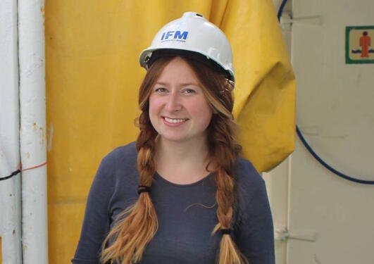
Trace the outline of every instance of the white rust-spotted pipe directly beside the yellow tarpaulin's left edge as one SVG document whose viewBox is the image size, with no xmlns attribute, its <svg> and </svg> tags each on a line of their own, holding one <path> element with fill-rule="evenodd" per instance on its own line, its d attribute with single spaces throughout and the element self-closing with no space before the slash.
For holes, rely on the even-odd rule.
<svg viewBox="0 0 374 264">
<path fill-rule="evenodd" d="M 20 156 L 46 162 L 44 0 L 18 0 Z M 22 173 L 23 263 L 48 263 L 46 165 Z"/>
</svg>

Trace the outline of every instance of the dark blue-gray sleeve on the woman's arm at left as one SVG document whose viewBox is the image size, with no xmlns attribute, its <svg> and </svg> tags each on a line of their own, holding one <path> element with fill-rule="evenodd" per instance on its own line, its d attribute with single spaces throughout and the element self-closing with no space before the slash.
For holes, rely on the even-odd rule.
<svg viewBox="0 0 374 264">
<path fill-rule="evenodd" d="M 72 263 L 99 263 L 101 244 L 109 230 L 109 204 L 113 195 L 113 166 L 101 161 L 87 198 L 80 240 Z"/>
</svg>

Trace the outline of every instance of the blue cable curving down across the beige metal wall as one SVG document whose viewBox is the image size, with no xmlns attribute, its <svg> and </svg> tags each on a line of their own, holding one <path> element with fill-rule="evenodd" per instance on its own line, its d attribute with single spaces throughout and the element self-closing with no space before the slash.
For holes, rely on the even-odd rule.
<svg viewBox="0 0 374 264">
<path fill-rule="evenodd" d="M 278 10 L 278 21 L 280 21 L 280 16 L 283 13 L 283 8 L 285 8 L 286 3 L 287 3 L 287 0 L 283 0 L 282 4 L 280 4 L 280 8 Z M 311 148 L 311 146 L 309 146 L 308 142 L 306 142 L 306 140 L 304 139 L 303 134 L 301 134 L 301 131 L 299 130 L 299 127 L 297 125 L 296 125 L 296 132 L 297 132 L 297 135 L 299 136 L 301 142 L 304 144 L 304 146 L 306 147 L 306 149 L 308 149 L 309 153 L 311 153 L 311 155 L 314 158 L 316 158 L 316 160 L 320 164 L 322 164 L 323 167 L 325 167 L 328 170 L 330 170 L 330 172 L 335 173 L 339 177 L 342 177 L 345 180 L 349 180 L 351 182 L 357 182 L 357 183 L 361 183 L 361 184 L 374 184 L 374 181 L 360 180 L 360 179 L 357 179 L 356 177 L 351 177 L 351 176 L 345 175 L 344 173 L 339 172 L 339 170 L 335 170 L 335 168 L 332 168 L 330 165 L 328 165 L 328 163 L 325 163 L 325 161 L 323 161 L 323 159 L 320 158 L 320 156 L 318 156 L 317 153 L 313 151 L 313 149 Z"/>
</svg>

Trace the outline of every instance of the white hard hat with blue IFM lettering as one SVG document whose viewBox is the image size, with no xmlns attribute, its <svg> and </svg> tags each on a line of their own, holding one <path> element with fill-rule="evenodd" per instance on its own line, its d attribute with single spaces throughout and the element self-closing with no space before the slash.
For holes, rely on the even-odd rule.
<svg viewBox="0 0 374 264">
<path fill-rule="evenodd" d="M 185 54 L 194 58 L 195 54 L 204 61 L 213 61 L 211 65 L 218 65 L 216 68 L 223 70 L 235 82 L 230 42 L 222 30 L 198 13 L 186 12 L 182 18 L 163 26 L 151 46 L 140 54 L 140 65 L 148 70 L 158 53 L 157 58 L 168 54 Z"/>
</svg>

